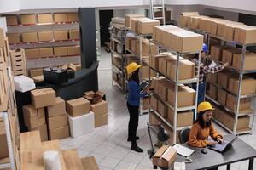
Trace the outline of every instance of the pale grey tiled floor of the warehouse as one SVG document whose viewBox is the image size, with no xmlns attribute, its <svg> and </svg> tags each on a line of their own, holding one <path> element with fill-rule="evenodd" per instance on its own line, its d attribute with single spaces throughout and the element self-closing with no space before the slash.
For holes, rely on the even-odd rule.
<svg viewBox="0 0 256 170">
<path fill-rule="evenodd" d="M 98 77 L 99 88 L 106 92 L 108 99 L 108 126 L 98 127 L 94 132 L 79 138 L 67 138 L 61 140 L 61 149 L 76 148 L 79 155 L 95 156 L 101 170 L 123 169 L 152 169 L 152 163 L 148 158 L 147 150 L 150 149 L 148 137 L 148 115 L 140 116 L 137 134 L 140 137 L 138 145 L 144 150 L 137 153 L 130 150 L 131 143 L 127 142 L 127 125 L 129 114 L 126 109 L 125 96 L 120 93 L 119 88 L 113 87 L 111 82 L 111 59 L 110 55 L 102 50 Z M 218 131 L 226 132 L 216 125 Z M 256 149 L 256 126 L 253 127 L 253 135 L 242 135 L 239 138 L 246 141 Z M 155 141 L 155 137 L 154 137 Z M 254 161 L 256 170 L 256 161 Z M 232 165 L 232 170 L 247 169 L 247 161 Z M 225 169 L 225 167 L 219 167 Z"/>
</svg>

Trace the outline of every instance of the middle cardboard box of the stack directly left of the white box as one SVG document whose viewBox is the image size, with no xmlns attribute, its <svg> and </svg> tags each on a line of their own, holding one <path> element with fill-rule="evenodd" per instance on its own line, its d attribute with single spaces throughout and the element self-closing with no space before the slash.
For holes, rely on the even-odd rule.
<svg viewBox="0 0 256 170">
<path fill-rule="evenodd" d="M 61 116 L 53 116 L 47 118 L 47 124 L 49 130 L 54 130 L 59 127 L 65 127 L 68 125 L 67 115 L 61 115 Z"/>
</svg>

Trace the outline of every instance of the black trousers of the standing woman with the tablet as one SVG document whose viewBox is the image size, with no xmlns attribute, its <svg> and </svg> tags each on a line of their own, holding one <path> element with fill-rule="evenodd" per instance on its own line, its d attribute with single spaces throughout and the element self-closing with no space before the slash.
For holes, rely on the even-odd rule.
<svg viewBox="0 0 256 170">
<path fill-rule="evenodd" d="M 139 106 L 129 105 L 127 102 L 127 107 L 130 115 L 128 124 L 128 138 L 131 139 L 131 144 L 137 144 L 136 133 L 138 127 Z"/>
</svg>

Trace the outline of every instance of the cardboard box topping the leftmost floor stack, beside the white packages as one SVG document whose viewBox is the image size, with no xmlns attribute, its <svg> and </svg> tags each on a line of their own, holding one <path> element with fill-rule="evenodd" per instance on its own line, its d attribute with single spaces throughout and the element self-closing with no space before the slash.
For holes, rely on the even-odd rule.
<svg viewBox="0 0 256 170">
<path fill-rule="evenodd" d="M 35 108 L 42 108 L 49 105 L 55 105 L 56 94 L 52 88 L 42 88 L 31 91 L 32 105 Z"/>
</svg>

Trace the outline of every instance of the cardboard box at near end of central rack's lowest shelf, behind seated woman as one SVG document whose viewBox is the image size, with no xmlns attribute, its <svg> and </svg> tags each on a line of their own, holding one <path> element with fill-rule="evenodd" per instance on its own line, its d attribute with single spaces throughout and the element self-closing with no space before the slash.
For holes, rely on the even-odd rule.
<svg viewBox="0 0 256 170">
<path fill-rule="evenodd" d="M 177 127 L 187 127 L 193 124 L 193 111 L 182 111 L 177 112 Z M 168 108 L 167 119 L 172 123 L 174 123 L 174 111 L 171 108 Z"/>
</svg>

